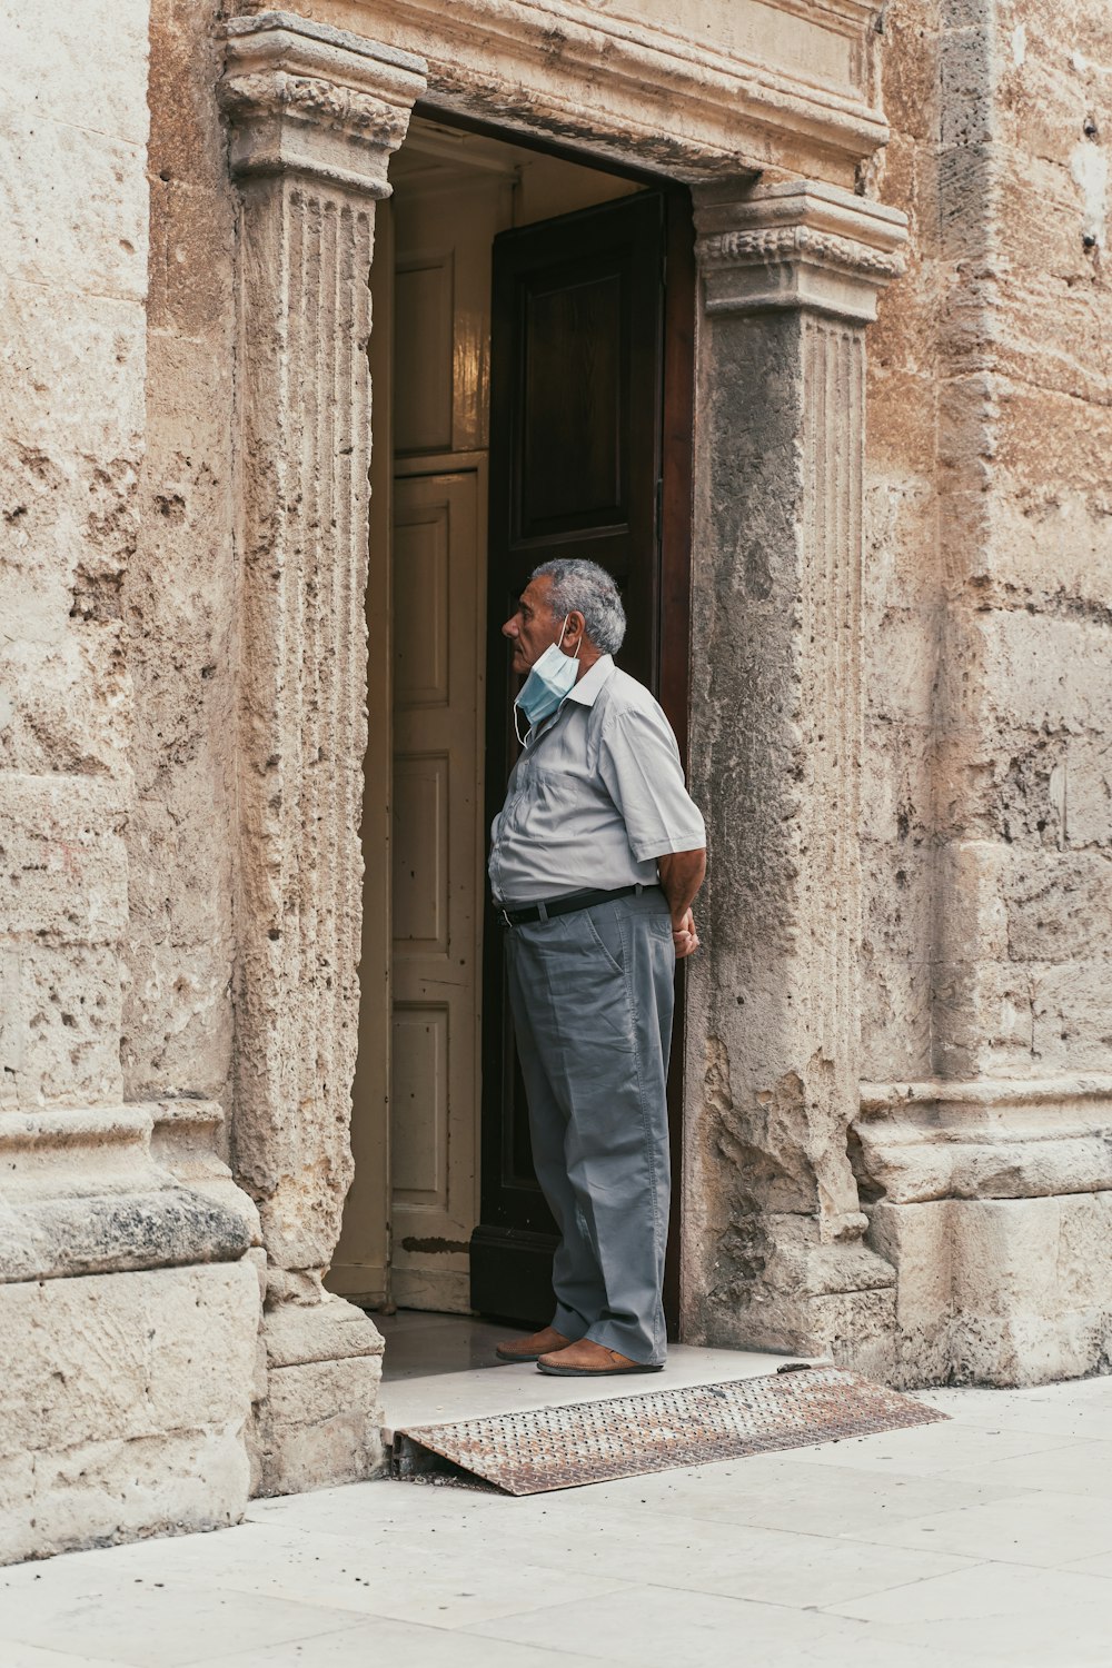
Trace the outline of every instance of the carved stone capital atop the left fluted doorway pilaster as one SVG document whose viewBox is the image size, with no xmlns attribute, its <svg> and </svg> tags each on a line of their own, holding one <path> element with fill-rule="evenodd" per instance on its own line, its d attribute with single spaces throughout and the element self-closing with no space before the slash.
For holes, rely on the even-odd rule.
<svg viewBox="0 0 1112 1668">
<path fill-rule="evenodd" d="M 288 12 L 223 27 L 220 103 L 232 127 L 232 173 L 295 173 L 387 197 L 387 165 L 425 90 L 408 52 Z"/>
</svg>

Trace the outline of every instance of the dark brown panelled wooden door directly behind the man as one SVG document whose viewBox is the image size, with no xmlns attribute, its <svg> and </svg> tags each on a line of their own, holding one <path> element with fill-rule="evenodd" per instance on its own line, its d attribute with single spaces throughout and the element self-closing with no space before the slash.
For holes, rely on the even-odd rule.
<svg viewBox="0 0 1112 1668">
<path fill-rule="evenodd" d="M 662 193 L 642 192 L 495 240 L 488 819 L 502 806 L 517 746 L 518 679 L 500 626 L 538 562 L 589 557 L 614 574 L 629 617 L 619 664 L 660 687 L 667 208 Z M 555 1224 L 530 1156 L 502 929 L 487 904 L 473 1308 L 548 1321 L 553 1248 Z"/>
</svg>

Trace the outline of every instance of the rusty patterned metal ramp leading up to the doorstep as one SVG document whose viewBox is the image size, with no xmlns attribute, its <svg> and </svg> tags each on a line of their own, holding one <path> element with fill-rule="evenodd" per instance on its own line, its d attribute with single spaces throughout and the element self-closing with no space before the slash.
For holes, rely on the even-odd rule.
<svg viewBox="0 0 1112 1668">
<path fill-rule="evenodd" d="M 408 1426 L 393 1433 L 392 1475 L 542 1495 L 944 1418 L 842 1368 L 780 1368 L 725 1384 Z"/>
</svg>

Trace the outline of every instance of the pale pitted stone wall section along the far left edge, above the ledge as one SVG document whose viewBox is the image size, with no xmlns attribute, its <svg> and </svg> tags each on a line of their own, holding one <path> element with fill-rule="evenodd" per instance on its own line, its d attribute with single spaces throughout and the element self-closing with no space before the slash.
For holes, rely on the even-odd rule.
<svg viewBox="0 0 1112 1668">
<path fill-rule="evenodd" d="M 145 8 L 5 22 L 0 1106 L 118 1103 L 147 294 Z M 118 53 L 118 57 L 117 57 Z M 52 73 L 42 65 L 50 60 Z M 73 110 L 97 112 L 77 125 Z"/>
</svg>

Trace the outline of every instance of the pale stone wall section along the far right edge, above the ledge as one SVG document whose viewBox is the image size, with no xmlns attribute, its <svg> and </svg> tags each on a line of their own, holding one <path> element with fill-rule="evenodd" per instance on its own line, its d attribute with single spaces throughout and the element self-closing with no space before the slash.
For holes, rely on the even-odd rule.
<svg viewBox="0 0 1112 1668">
<path fill-rule="evenodd" d="M 957 282 L 940 342 L 937 814 L 952 919 L 935 1066 L 1107 1073 L 1112 23 L 1077 0 L 985 3 L 955 20 L 945 53 L 964 117 L 952 172 L 970 137 L 960 188 L 944 182 Z M 989 113 L 964 92 L 974 65 Z M 954 931 L 970 889 L 972 934 Z"/>
</svg>

